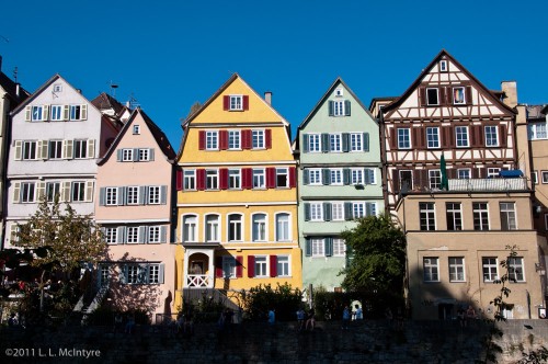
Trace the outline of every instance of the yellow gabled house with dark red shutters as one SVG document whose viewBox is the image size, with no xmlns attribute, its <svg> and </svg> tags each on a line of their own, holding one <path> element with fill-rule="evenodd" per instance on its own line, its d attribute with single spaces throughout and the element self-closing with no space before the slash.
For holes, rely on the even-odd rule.
<svg viewBox="0 0 548 364">
<path fill-rule="evenodd" d="M 301 287 L 289 124 L 239 75 L 183 123 L 175 305 L 260 284 Z"/>
</svg>

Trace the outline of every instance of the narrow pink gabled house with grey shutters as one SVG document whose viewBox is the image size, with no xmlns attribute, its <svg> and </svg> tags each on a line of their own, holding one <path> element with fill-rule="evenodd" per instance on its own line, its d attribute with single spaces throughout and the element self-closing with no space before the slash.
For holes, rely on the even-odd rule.
<svg viewBox="0 0 548 364">
<path fill-rule="evenodd" d="M 95 219 L 109 244 L 99 284 L 118 309 L 145 309 L 152 322 L 173 306 L 173 160 L 165 135 L 133 112 L 98 164 Z"/>
</svg>

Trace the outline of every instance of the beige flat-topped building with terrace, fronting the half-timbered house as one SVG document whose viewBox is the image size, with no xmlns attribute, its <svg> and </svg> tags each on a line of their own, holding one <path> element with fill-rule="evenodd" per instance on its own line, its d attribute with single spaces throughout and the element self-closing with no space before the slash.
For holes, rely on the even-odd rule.
<svg viewBox="0 0 548 364">
<path fill-rule="evenodd" d="M 493 318 L 505 273 L 509 319 L 537 318 L 543 307 L 538 239 L 525 179 L 449 180 L 448 191 L 409 192 L 397 205 L 408 240 L 408 298 L 413 319 L 450 319 L 472 305 Z"/>
</svg>

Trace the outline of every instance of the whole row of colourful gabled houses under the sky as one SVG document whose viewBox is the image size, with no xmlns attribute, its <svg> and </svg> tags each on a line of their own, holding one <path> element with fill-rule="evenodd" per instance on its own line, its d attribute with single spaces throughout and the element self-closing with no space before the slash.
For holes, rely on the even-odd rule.
<svg viewBox="0 0 548 364">
<path fill-rule="evenodd" d="M 413 318 L 492 315 L 506 246 L 506 317 L 545 312 L 547 109 L 518 104 L 512 81 L 487 89 L 445 50 L 368 106 L 338 78 L 294 139 L 272 93 L 233 75 L 183 121 L 179 150 L 141 109 L 89 101 L 59 75 L 32 94 L 3 73 L 0 86 L 3 247 L 58 195 L 101 225 L 98 291 L 118 307 L 161 315 L 259 284 L 340 291 L 341 231 L 388 212 L 408 239 Z"/>
</svg>

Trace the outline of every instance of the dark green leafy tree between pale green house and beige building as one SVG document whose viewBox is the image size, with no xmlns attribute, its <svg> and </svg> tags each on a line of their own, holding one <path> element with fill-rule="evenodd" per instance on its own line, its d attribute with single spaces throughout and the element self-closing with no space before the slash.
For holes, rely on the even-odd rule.
<svg viewBox="0 0 548 364">
<path fill-rule="evenodd" d="M 388 215 L 361 218 L 342 232 L 351 259 L 341 272 L 342 286 L 353 292 L 403 292 L 406 236 Z"/>
</svg>

